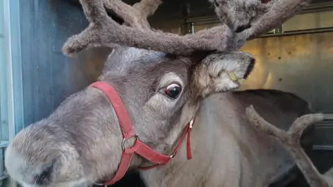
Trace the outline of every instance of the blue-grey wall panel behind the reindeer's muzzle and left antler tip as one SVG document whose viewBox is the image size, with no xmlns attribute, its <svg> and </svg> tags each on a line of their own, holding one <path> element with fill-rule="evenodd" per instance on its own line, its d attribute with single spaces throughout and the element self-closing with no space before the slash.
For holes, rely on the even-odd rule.
<svg viewBox="0 0 333 187">
<path fill-rule="evenodd" d="M 61 48 L 87 26 L 82 10 L 65 0 L 20 2 L 24 123 L 49 116 L 74 92 L 99 75 L 108 48 L 89 50 L 74 58 Z"/>
</svg>

